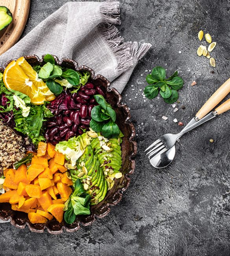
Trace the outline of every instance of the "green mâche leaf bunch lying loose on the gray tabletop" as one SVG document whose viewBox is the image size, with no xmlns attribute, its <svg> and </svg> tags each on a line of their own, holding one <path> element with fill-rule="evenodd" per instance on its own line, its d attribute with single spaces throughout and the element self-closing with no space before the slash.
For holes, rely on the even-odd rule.
<svg viewBox="0 0 230 256">
<path fill-rule="evenodd" d="M 172 76 L 166 78 L 166 70 L 163 67 L 155 67 L 151 74 L 146 76 L 146 81 L 149 83 L 144 89 L 146 98 L 155 98 L 159 91 L 164 101 L 168 104 L 172 104 L 178 99 L 178 90 L 183 85 L 183 79 L 178 76 L 176 71 Z"/>
</svg>

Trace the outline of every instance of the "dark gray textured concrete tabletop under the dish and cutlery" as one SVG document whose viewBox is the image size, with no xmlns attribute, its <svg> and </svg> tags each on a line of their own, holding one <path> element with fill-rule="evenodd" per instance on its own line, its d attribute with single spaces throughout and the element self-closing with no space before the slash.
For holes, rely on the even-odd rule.
<svg viewBox="0 0 230 256">
<path fill-rule="evenodd" d="M 65 2 L 31 0 L 24 34 Z M 173 119 L 186 124 L 230 77 L 229 6 L 229 0 L 121 0 L 123 37 L 153 44 L 123 92 L 138 141 L 130 187 L 107 217 L 73 234 L 35 234 L 0 225 L 0 255 L 230 255 L 230 113 L 181 138 L 175 161 L 166 169 L 151 167 L 143 152 L 158 135 L 179 132 Z M 196 55 L 200 29 L 217 42 L 216 68 Z M 162 98 L 142 96 L 145 70 L 156 65 L 169 75 L 178 69 L 184 78 L 176 113 Z M 197 85 L 192 87 L 193 80 Z"/>
</svg>

